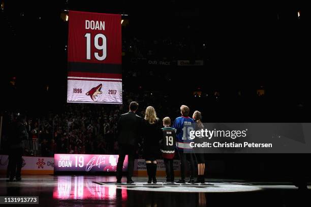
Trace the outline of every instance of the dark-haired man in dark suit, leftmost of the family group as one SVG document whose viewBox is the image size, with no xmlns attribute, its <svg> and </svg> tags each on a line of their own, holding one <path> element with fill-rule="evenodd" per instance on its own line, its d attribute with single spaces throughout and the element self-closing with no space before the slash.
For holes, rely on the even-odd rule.
<svg viewBox="0 0 311 207">
<path fill-rule="evenodd" d="M 127 183 L 134 183 L 132 180 L 134 158 L 141 134 L 140 127 L 143 123 L 143 119 L 136 115 L 137 109 L 138 103 L 135 101 L 131 102 L 130 111 L 126 114 L 122 114 L 118 121 L 119 158 L 116 170 L 117 183 L 121 183 L 123 162 L 126 155 L 129 155 Z"/>
</svg>

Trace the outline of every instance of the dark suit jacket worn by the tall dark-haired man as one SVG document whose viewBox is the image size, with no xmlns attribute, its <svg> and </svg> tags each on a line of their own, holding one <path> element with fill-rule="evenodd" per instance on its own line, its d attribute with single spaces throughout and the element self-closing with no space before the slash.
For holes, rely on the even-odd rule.
<svg viewBox="0 0 311 207">
<path fill-rule="evenodd" d="M 136 146 L 142 133 L 143 119 L 134 112 L 122 114 L 118 121 L 118 143 Z"/>
</svg>

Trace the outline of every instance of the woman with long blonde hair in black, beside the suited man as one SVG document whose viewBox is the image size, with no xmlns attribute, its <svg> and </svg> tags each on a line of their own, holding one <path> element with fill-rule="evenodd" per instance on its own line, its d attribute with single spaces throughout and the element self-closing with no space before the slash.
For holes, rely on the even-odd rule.
<svg viewBox="0 0 311 207">
<path fill-rule="evenodd" d="M 148 183 L 157 183 L 157 158 L 160 153 L 159 141 L 162 137 L 160 121 L 153 107 L 147 107 L 145 113 L 143 156 L 146 160 Z"/>
</svg>

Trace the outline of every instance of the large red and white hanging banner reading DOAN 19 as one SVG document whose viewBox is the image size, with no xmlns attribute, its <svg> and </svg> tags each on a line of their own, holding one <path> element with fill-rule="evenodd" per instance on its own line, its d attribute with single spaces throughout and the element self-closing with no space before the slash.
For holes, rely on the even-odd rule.
<svg viewBox="0 0 311 207">
<path fill-rule="evenodd" d="M 122 103 L 121 15 L 69 11 L 67 101 Z"/>
</svg>

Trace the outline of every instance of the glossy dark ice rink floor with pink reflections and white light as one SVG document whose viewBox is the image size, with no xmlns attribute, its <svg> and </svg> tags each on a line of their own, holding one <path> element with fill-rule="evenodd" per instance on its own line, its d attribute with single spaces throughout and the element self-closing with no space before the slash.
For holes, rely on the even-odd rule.
<svg viewBox="0 0 311 207">
<path fill-rule="evenodd" d="M 311 190 L 291 183 L 206 179 L 205 184 L 116 184 L 112 176 L 24 176 L 0 178 L 0 196 L 39 196 L 39 206 L 310 206 Z M 177 181 L 177 179 L 176 179 Z M 309 186 L 309 189 L 311 186 Z M 305 205 L 306 204 L 306 205 Z M 12 206 L 12 205 L 9 205 Z M 31 205 L 30 205 L 31 206 Z M 38 205 L 34 205 L 38 206 Z"/>
</svg>

